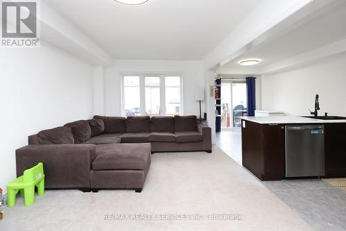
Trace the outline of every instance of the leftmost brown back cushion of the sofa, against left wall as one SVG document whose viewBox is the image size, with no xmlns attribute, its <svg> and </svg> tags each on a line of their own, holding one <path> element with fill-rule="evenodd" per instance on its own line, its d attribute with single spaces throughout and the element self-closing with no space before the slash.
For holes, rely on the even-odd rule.
<svg viewBox="0 0 346 231">
<path fill-rule="evenodd" d="M 37 133 L 39 144 L 74 144 L 71 128 L 57 127 L 42 130 Z"/>
</svg>

